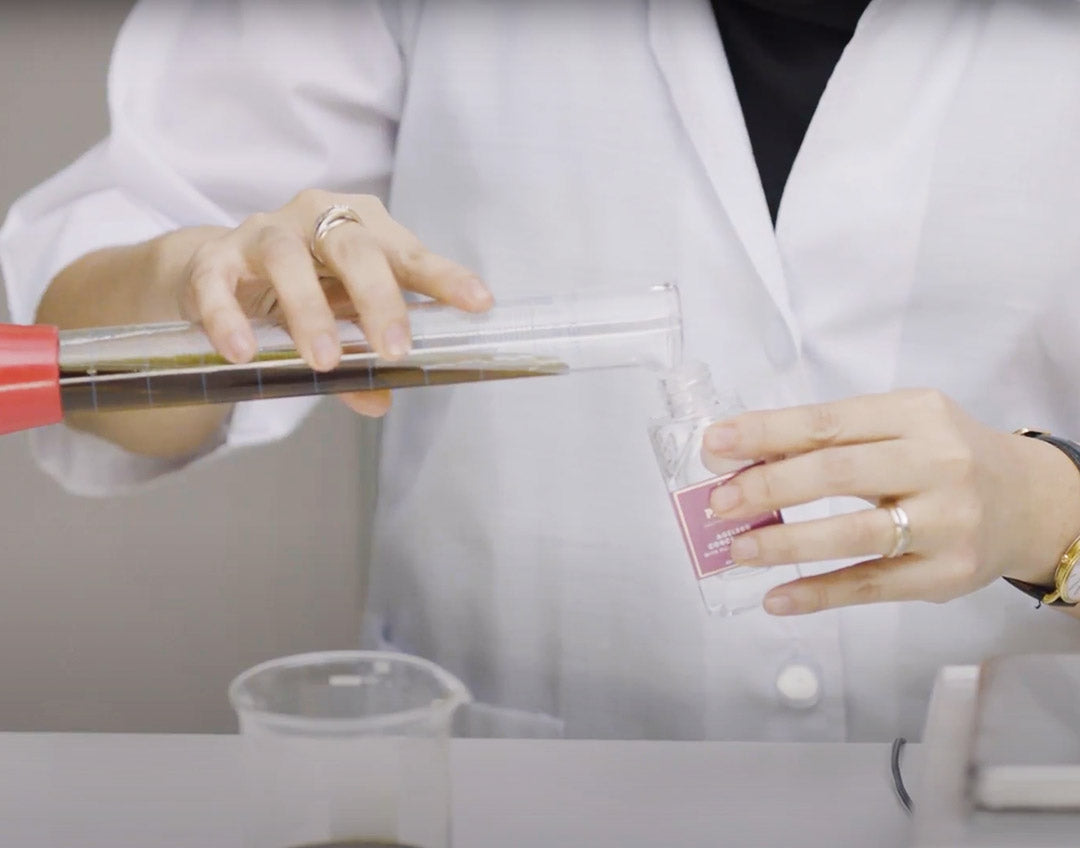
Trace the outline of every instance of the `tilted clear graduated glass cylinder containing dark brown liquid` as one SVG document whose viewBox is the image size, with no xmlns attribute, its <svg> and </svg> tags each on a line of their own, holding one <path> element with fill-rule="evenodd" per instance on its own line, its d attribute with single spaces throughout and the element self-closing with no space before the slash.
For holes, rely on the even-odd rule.
<svg viewBox="0 0 1080 848">
<path fill-rule="evenodd" d="M 315 372 L 280 324 L 256 322 L 258 352 L 234 364 L 198 325 L 151 324 L 59 333 L 64 412 L 135 409 L 347 391 L 537 377 L 571 371 L 671 367 L 681 321 L 673 285 L 577 292 L 497 302 L 473 314 L 435 302 L 409 308 L 413 351 L 389 362 L 351 321 L 343 355 Z"/>
</svg>

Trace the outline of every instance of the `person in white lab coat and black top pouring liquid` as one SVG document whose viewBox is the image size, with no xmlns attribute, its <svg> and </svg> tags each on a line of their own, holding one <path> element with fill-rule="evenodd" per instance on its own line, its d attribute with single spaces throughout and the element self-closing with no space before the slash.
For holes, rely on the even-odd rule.
<svg viewBox="0 0 1080 848">
<path fill-rule="evenodd" d="M 12 314 L 200 319 L 242 361 L 274 305 L 326 369 L 320 275 L 388 356 L 403 291 L 484 310 L 676 279 L 688 353 L 756 410 L 706 459 L 772 460 L 713 508 L 785 511 L 738 556 L 827 565 L 769 614 L 703 611 L 648 374 L 405 392 L 365 644 L 461 675 L 494 732 L 918 736 L 941 664 L 1080 648 L 1074 616 L 999 579 L 1049 583 L 1080 531 L 1077 469 L 1012 434 L 1080 434 L 1080 4 L 713 5 L 143 2 L 109 137 L 8 217 Z M 362 223 L 314 258 L 335 205 Z M 100 495 L 282 439 L 312 403 L 72 418 L 32 444 Z"/>
</svg>

